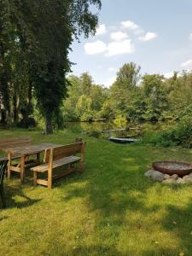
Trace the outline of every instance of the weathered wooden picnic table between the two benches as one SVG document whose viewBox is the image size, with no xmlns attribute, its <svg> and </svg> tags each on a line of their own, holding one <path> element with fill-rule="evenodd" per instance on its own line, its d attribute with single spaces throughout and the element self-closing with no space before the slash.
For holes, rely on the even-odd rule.
<svg viewBox="0 0 192 256">
<path fill-rule="evenodd" d="M 62 146 L 61 144 L 55 143 L 41 143 L 36 145 L 27 145 L 24 147 L 6 148 L 5 151 L 8 153 L 8 177 L 10 178 L 11 171 L 20 172 L 20 183 L 24 182 L 26 172 L 26 158 L 30 155 L 36 155 L 37 166 L 40 163 L 40 154 L 48 148 L 56 148 Z M 19 155 L 20 163 L 17 166 L 11 165 L 11 157 Z"/>
</svg>

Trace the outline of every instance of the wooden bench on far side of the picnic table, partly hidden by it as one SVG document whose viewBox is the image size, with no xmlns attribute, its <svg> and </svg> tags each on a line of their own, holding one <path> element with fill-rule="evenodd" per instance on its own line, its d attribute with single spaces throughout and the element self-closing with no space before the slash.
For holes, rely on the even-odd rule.
<svg viewBox="0 0 192 256">
<path fill-rule="evenodd" d="M 0 150 L 8 152 L 9 148 L 27 147 L 31 145 L 31 137 L 10 137 L 7 139 L 0 140 Z M 12 160 L 20 159 L 20 154 L 8 154 L 8 177 L 10 178 L 11 172 L 20 172 L 20 163 L 12 166 Z M 33 163 L 34 160 L 26 160 L 25 165 Z"/>
</svg>

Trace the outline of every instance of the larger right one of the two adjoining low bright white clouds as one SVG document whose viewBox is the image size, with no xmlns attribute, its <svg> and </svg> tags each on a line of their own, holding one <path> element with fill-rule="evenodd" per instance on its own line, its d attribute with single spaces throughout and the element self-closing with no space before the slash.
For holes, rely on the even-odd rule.
<svg viewBox="0 0 192 256">
<path fill-rule="evenodd" d="M 131 43 L 131 39 L 109 43 L 107 49 L 108 52 L 106 55 L 108 56 L 131 54 L 135 51 L 135 47 L 134 44 Z"/>
</svg>

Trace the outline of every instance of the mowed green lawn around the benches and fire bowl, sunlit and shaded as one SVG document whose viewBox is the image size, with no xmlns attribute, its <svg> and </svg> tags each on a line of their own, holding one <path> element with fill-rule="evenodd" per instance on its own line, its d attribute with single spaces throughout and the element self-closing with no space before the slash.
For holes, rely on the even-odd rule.
<svg viewBox="0 0 192 256">
<path fill-rule="evenodd" d="M 55 131 L 0 131 L 33 143 L 71 143 L 81 136 Z M 87 141 L 83 174 L 49 190 L 5 181 L 8 208 L 0 211 L 0 255 L 192 255 L 192 186 L 143 177 L 154 160 L 192 160 L 190 149 Z M 182 254 L 181 254 L 182 255 Z"/>
</svg>

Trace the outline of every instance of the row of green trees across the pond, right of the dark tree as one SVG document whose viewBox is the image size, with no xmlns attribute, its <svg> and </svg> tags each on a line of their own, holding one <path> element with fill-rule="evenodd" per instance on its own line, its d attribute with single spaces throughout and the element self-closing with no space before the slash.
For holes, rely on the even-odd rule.
<svg viewBox="0 0 192 256">
<path fill-rule="evenodd" d="M 67 99 L 61 113 L 67 121 L 113 119 L 129 121 L 179 120 L 192 116 L 192 73 L 175 72 L 170 79 L 160 74 L 141 76 L 133 62 L 119 69 L 110 88 L 94 84 L 89 73 L 68 78 Z"/>
</svg>

